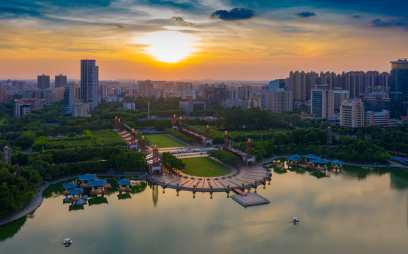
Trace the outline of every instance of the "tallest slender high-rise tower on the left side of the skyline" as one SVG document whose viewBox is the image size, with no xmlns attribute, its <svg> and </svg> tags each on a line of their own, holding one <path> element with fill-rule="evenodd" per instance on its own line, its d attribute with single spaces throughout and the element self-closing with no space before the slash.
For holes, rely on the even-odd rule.
<svg viewBox="0 0 408 254">
<path fill-rule="evenodd" d="M 89 104 L 89 110 L 94 111 L 98 104 L 98 66 L 95 60 L 80 60 L 80 90 L 81 99 Z"/>
</svg>

